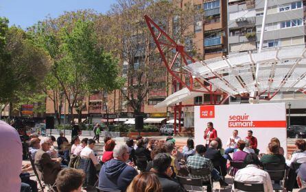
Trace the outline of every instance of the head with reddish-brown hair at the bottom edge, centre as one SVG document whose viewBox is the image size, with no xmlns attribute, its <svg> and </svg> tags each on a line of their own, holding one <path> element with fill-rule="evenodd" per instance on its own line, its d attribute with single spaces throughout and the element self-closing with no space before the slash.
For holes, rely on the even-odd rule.
<svg viewBox="0 0 306 192">
<path fill-rule="evenodd" d="M 161 183 L 152 173 L 142 173 L 136 176 L 126 192 L 162 192 Z"/>
</svg>

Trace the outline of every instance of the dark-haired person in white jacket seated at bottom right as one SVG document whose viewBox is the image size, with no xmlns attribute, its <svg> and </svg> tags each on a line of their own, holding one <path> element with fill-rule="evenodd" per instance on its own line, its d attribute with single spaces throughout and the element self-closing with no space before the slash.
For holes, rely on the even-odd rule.
<svg viewBox="0 0 306 192">
<path fill-rule="evenodd" d="M 257 155 L 250 153 L 244 159 L 246 167 L 244 169 L 239 169 L 235 175 L 235 180 L 239 182 L 246 183 L 263 183 L 264 192 L 272 192 L 272 182 L 268 172 L 260 169 L 260 161 L 257 158 Z M 233 185 L 233 191 L 239 191 L 235 189 Z"/>
</svg>

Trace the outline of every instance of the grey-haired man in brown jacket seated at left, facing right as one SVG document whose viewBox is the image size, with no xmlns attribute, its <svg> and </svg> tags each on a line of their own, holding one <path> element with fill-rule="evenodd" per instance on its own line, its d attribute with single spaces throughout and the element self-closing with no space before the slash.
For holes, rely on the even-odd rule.
<svg viewBox="0 0 306 192">
<path fill-rule="evenodd" d="M 51 147 L 51 139 L 44 137 L 40 140 L 40 149 L 35 154 L 35 163 L 37 163 L 38 171 L 41 172 L 43 181 L 47 184 L 54 184 L 58 172 L 60 172 L 61 158 L 52 161 L 51 156 L 47 153 Z"/>
</svg>

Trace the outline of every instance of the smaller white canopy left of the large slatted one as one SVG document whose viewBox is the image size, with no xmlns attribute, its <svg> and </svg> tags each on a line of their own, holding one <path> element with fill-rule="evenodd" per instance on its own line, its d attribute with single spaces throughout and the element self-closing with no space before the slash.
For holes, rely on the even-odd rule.
<svg viewBox="0 0 306 192">
<path fill-rule="evenodd" d="M 199 91 L 206 91 L 204 88 L 199 89 Z M 157 105 L 154 105 L 154 108 L 160 108 L 160 107 L 169 107 L 174 106 L 178 102 L 182 102 L 184 100 L 187 100 L 189 98 L 193 98 L 196 96 L 202 96 L 202 92 L 190 92 L 187 87 L 183 88 L 182 90 L 179 90 L 178 92 L 175 92 L 174 94 L 167 96 L 165 100 L 162 102 L 159 102 Z"/>
</svg>

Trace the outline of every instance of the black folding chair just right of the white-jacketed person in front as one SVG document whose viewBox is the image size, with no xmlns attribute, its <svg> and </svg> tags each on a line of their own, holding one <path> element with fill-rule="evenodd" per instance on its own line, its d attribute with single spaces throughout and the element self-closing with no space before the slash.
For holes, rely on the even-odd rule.
<svg viewBox="0 0 306 192">
<path fill-rule="evenodd" d="M 283 190 L 283 183 L 286 174 L 286 164 L 279 163 L 263 163 L 263 170 L 268 172 L 272 182 L 274 191 Z"/>
</svg>

